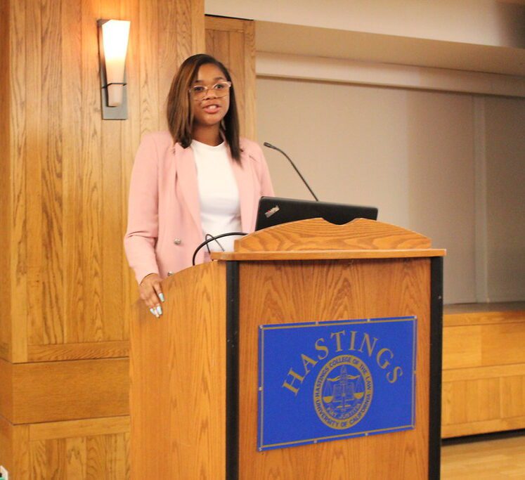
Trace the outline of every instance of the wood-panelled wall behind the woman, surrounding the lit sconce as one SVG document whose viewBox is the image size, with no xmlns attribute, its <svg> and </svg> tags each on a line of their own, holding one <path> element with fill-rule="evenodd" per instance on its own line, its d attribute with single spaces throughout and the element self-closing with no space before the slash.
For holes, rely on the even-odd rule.
<svg viewBox="0 0 525 480">
<path fill-rule="evenodd" d="M 125 121 L 101 119 L 98 18 L 131 20 Z M 204 29 L 203 0 L 0 3 L 0 464 L 13 478 L 128 476 L 129 176 Z M 67 387 L 103 377 L 105 400 Z M 39 410 L 24 410 L 37 384 Z"/>
</svg>

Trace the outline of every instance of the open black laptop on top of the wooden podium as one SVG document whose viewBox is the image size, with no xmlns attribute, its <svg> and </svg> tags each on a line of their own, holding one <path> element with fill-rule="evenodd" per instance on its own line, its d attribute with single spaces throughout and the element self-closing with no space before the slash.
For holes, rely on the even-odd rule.
<svg viewBox="0 0 525 480">
<path fill-rule="evenodd" d="M 348 223 L 354 219 L 377 220 L 377 208 L 296 200 L 294 198 L 261 197 L 255 230 L 262 230 L 289 221 L 316 218 L 322 218 L 337 225 Z"/>
</svg>

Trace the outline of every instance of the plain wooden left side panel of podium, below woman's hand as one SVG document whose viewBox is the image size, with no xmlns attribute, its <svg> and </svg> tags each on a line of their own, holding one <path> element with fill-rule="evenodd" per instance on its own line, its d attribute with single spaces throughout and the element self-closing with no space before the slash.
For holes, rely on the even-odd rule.
<svg viewBox="0 0 525 480">
<path fill-rule="evenodd" d="M 164 314 L 131 323 L 131 472 L 221 479 L 226 438 L 226 266 L 164 281 Z"/>
</svg>

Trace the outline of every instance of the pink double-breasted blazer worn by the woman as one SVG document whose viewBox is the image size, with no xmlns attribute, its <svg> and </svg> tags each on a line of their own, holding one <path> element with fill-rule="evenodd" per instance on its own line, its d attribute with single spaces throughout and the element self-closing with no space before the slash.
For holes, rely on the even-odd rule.
<svg viewBox="0 0 525 480">
<path fill-rule="evenodd" d="M 273 188 L 259 145 L 242 138 L 240 148 L 241 163 L 231 160 L 231 165 L 239 188 L 242 231 L 249 233 L 255 228 L 259 197 L 273 195 Z M 131 172 L 124 237 L 138 283 L 149 273 L 165 278 L 191 266 L 203 239 L 193 150 L 174 144 L 168 131 L 145 135 Z M 203 249 L 195 263 L 202 261 Z"/>
</svg>

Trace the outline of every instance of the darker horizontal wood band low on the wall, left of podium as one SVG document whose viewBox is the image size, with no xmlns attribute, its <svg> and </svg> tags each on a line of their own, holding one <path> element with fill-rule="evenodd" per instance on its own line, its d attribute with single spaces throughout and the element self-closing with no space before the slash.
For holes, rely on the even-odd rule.
<svg viewBox="0 0 525 480">
<path fill-rule="evenodd" d="M 129 413 L 127 358 L 13 365 L 13 424 Z"/>
</svg>

